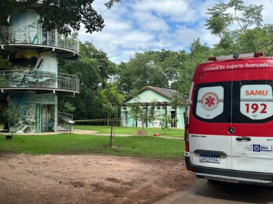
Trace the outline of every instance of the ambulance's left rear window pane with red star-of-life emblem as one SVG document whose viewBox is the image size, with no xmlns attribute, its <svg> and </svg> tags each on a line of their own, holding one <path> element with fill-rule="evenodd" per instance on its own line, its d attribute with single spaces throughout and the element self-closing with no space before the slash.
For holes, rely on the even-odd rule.
<svg viewBox="0 0 273 204">
<path fill-rule="evenodd" d="M 204 122 L 231 122 L 231 82 L 195 87 L 193 116 Z"/>
</svg>

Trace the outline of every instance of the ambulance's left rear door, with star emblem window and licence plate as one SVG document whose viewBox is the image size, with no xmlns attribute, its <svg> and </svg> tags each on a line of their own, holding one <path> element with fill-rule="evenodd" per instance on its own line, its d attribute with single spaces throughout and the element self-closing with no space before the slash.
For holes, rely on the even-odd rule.
<svg viewBox="0 0 273 204">
<path fill-rule="evenodd" d="M 221 70 L 224 66 L 215 62 L 195 73 L 189 147 L 194 165 L 231 170 L 232 70 Z"/>
</svg>

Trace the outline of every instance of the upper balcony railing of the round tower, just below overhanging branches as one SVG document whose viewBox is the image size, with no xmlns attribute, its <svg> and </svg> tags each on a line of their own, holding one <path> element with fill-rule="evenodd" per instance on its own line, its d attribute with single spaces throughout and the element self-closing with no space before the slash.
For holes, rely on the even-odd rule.
<svg viewBox="0 0 273 204">
<path fill-rule="evenodd" d="M 65 37 L 56 30 L 36 27 L 0 27 L 0 43 L 48 45 L 79 53 L 79 40 Z"/>
</svg>

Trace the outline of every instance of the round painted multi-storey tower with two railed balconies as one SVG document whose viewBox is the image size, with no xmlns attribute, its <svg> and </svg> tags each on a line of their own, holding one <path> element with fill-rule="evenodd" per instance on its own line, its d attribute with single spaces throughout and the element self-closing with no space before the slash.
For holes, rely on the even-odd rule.
<svg viewBox="0 0 273 204">
<path fill-rule="evenodd" d="M 10 70 L 0 68 L 0 106 L 22 107 L 18 133 L 57 131 L 58 97 L 79 93 L 78 77 L 58 72 L 59 60 L 78 58 L 79 41 L 44 29 L 39 6 L 40 0 L 0 28 L 0 56 L 12 63 Z"/>
</svg>

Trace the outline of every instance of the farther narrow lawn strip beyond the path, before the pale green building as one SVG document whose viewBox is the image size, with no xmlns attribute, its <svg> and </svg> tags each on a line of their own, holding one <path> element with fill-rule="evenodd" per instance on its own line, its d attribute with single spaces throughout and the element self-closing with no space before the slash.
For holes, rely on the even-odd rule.
<svg viewBox="0 0 273 204">
<path fill-rule="evenodd" d="M 98 131 L 98 133 L 111 133 L 111 127 L 107 126 L 93 126 L 93 125 L 73 125 L 74 129 L 79 130 L 94 130 Z M 140 127 L 115 127 L 115 133 L 116 134 L 129 134 L 131 135 L 134 130 L 141 130 Z M 145 128 L 150 135 L 152 136 L 154 132 L 157 132 L 160 134 L 160 136 L 172 136 L 172 137 L 184 137 L 184 129 L 177 129 L 177 128 L 171 128 L 169 130 L 166 130 L 166 133 L 164 134 L 164 131 L 161 128 Z"/>
</svg>

